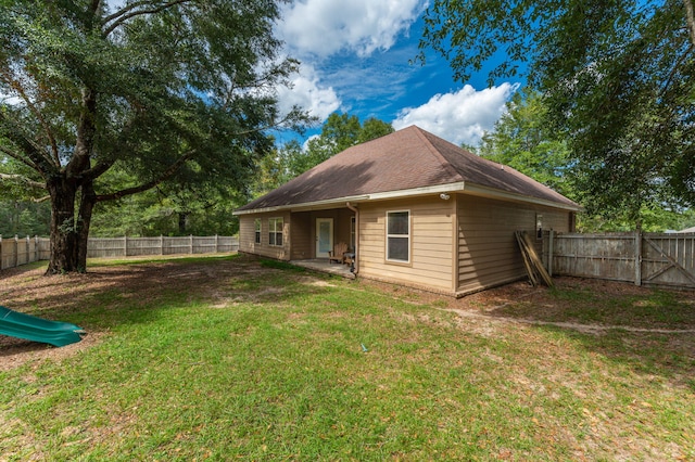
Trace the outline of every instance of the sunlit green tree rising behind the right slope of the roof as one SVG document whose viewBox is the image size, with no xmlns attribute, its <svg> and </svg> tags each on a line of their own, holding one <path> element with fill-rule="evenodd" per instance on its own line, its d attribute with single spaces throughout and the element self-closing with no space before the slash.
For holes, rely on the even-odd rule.
<svg viewBox="0 0 695 462">
<path fill-rule="evenodd" d="M 515 93 L 507 112 L 482 137 L 481 157 L 508 165 L 534 180 L 574 197 L 568 179 L 570 152 L 545 123 L 547 108 L 538 92 Z"/>
</svg>

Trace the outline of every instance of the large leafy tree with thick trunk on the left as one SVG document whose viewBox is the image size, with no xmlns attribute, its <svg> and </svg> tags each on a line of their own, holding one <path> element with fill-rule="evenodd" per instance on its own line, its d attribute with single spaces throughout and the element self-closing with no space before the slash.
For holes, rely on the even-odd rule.
<svg viewBox="0 0 695 462">
<path fill-rule="evenodd" d="M 47 273 L 86 269 L 97 204 L 191 171 L 241 187 L 271 149 L 264 130 L 303 120 L 276 107 L 298 64 L 277 55 L 278 15 L 255 0 L 2 1 L 0 174 L 50 197 Z"/>
</svg>

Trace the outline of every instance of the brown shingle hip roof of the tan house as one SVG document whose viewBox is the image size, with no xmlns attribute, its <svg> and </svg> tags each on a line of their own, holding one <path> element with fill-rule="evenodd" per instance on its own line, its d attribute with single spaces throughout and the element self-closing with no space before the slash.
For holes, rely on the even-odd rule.
<svg viewBox="0 0 695 462">
<path fill-rule="evenodd" d="M 486 161 L 416 126 L 346 149 L 239 208 L 253 210 L 450 183 L 578 207 L 519 171 Z"/>
</svg>

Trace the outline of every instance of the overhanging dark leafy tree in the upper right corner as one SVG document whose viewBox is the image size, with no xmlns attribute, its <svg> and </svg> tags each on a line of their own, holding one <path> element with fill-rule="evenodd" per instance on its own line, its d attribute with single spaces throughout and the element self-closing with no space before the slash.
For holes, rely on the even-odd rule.
<svg viewBox="0 0 695 462">
<path fill-rule="evenodd" d="M 462 80 L 501 53 L 491 84 L 528 64 L 589 211 L 640 227 L 644 204 L 695 204 L 692 0 L 434 0 L 425 22 L 421 49 Z"/>
</svg>

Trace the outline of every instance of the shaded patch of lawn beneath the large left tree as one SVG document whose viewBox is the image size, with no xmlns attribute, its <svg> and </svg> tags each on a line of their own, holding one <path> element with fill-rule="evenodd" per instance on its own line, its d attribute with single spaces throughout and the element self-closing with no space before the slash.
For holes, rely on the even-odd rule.
<svg viewBox="0 0 695 462">
<path fill-rule="evenodd" d="M 0 281 L 0 300 L 87 332 L 103 331 L 150 322 L 164 310 L 194 304 L 277 301 L 293 284 L 285 275 L 303 272 L 243 255 L 100 262 L 85 274 L 51 277 L 42 269 L 15 269 Z"/>
</svg>

